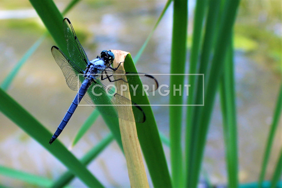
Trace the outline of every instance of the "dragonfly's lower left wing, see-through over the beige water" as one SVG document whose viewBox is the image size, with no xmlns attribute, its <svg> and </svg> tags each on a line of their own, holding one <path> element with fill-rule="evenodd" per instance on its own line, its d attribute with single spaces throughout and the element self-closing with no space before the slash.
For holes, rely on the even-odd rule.
<svg viewBox="0 0 282 188">
<path fill-rule="evenodd" d="M 53 46 L 51 51 L 56 63 L 62 69 L 67 85 L 77 91 L 85 79 L 82 75 L 83 70 L 72 63 L 58 47 Z"/>
</svg>

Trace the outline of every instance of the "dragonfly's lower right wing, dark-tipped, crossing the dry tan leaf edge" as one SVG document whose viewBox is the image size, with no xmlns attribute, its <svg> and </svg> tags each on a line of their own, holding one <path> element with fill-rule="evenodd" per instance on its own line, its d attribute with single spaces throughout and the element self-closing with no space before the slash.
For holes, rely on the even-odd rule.
<svg viewBox="0 0 282 188">
<path fill-rule="evenodd" d="M 96 106 L 99 112 L 111 117 L 136 122 L 145 121 L 145 114 L 138 104 L 117 94 L 113 89 L 106 87 L 98 80 L 96 82 L 90 85 L 83 98 L 88 104 Z M 132 117 L 131 110 L 134 117 Z"/>
</svg>

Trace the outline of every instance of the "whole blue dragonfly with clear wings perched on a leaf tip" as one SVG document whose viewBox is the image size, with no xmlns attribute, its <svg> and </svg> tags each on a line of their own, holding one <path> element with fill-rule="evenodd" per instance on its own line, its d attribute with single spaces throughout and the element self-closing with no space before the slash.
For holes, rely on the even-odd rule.
<svg viewBox="0 0 282 188">
<path fill-rule="evenodd" d="M 115 56 L 110 50 L 102 51 L 100 56 L 97 55 L 95 59 L 89 61 L 68 18 L 63 20 L 63 30 L 70 58 L 56 46 L 51 48 L 51 52 L 65 76 L 67 85 L 78 92 L 49 143 L 52 144 L 61 134 L 82 98 L 107 116 L 144 122 L 146 117 L 142 108 L 137 103 L 123 97 L 116 88 L 110 85 L 117 81 L 134 84 L 138 83 L 140 79 L 147 85 L 147 90 L 153 91 L 158 88 L 158 81 L 149 74 L 129 73 L 118 69 L 123 62 L 117 68 L 112 68 Z M 142 88 L 139 87 L 137 92 L 141 91 Z M 131 110 L 134 117 L 129 113 Z"/>
</svg>

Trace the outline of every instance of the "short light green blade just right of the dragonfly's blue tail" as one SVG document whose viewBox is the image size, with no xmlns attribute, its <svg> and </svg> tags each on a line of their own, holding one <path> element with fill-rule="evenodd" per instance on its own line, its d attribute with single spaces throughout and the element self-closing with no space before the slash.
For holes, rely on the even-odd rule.
<svg viewBox="0 0 282 188">
<path fill-rule="evenodd" d="M 94 109 L 93 112 L 88 117 L 88 119 L 83 123 L 83 125 L 79 129 L 76 136 L 74 137 L 72 144 L 71 144 L 71 147 L 75 146 L 75 144 L 80 140 L 80 138 L 85 135 L 85 133 L 92 126 L 92 124 L 95 122 L 95 120 L 97 120 L 99 115 L 100 115 L 100 113 L 96 109 Z"/>
</svg>

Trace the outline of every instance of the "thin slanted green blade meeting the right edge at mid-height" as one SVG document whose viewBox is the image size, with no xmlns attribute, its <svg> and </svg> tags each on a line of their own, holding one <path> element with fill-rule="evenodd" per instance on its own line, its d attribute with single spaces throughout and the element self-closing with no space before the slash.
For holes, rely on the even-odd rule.
<svg viewBox="0 0 282 188">
<path fill-rule="evenodd" d="M 271 153 L 271 147 L 273 145 L 273 139 L 275 137 L 275 133 L 277 132 L 278 123 L 279 123 L 279 120 L 280 120 L 280 117 L 281 117 L 280 116 L 281 110 L 282 110 L 282 85 L 281 85 L 281 88 L 280 88 L 280 93 L 279 93 L 278 98 L 277 98 L 276 108 L 275 108 L 275 111 L 274 111 L 274 116 L 273 116 L 272 124 L 271 124 L 271 127 L 270 127 L 268 139 L 267 139 L 265 152 L 264 152 L 262 170 L 261 170 L 260 179 L 259 179 L 259 187 L 260 188 L 262 187 L 262 182 L 264 181 L 264 175 L 265 175 L 266 166 L 267 166 L 267 163 L 268 163 L 268 160 L 269 160 L 269 155 Z"/>
</svg>

